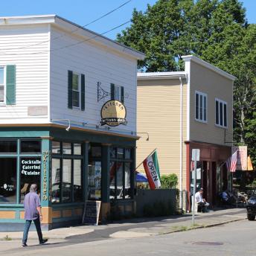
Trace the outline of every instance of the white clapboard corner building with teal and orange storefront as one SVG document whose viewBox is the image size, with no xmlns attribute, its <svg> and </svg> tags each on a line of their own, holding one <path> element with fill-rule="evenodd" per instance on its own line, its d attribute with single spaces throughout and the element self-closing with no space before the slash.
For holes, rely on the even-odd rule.
<svg viewBox="0 0 256 256">
<path fill-rule="evenodd" d="M 132 214 L 144 55 L 58 16 L 0 27 L 0 230 L 23 228 L 33 183 L 45 229 L 80 223 L 86 200 L 101 201 L 102 221 L 116 205 Z"/>
</svg>

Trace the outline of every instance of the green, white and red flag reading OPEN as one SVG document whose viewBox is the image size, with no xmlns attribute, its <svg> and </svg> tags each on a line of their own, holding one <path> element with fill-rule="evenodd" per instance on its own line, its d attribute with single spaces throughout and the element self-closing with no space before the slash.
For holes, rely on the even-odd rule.
<svg viewBox="0 0 256 256">
<path fill-rule="evenodd" d="M 161 186 L 161 182 L 159 161 L 157 160 L 156 150 L 150 156 L 147 156 L 147 159 L 143 161 L 143 165 L 147 175 L 148 183 L 150 185 L 150 189 L 159 188 Z"/>
</svg>

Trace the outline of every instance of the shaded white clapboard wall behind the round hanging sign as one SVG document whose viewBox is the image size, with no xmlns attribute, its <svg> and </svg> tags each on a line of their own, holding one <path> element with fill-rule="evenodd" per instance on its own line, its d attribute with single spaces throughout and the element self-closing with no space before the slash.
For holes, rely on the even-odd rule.
<svg viewBox="0 0 256 256">
<path fill-rule="evenodd" d="M 74 34 L 63 35 L 57 28 L 51 28 L 51 119 L 68 118 L 71 123 L 99 125 L 100 109 L 110 96 L 97 102 L 97 82 L 106 92 L 110 92 L 110 83 L 115 83 L 124 86 L 125 95 L 129 95 L 124 98 L 128 123 L 112 130 L 129 134 L 135 132 L 137 61 L 92 45 L 89 41 L 57 50 L 80 41 Z M 68 109 L 68 70 L 85 74 L 85 111 Z"/>
</svg>

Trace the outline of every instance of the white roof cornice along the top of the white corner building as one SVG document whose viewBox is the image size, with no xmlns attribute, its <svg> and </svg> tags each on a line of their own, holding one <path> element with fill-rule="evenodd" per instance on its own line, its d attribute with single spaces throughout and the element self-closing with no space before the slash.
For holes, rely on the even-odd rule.
<svg viewBox="0 0 256 256">
<path fill-rule="evenodd" d="M 33 24 L 53 24 L 60 26 L 68 31 L 74 31 L 74 28 L 79 28 L 75 31 L 74 34 L 79 34 L 80 36 L 86 36 L 94 40 L 95 42 L 100 43 L 106 47 L 112 48 L 115 51 L 121 52 L 121 54 L 128 54 L 130 57 L 135 58 L 136 60 L 144 60 L 145 55 L 140 51 L 129 48 L 127 45 L 123 45 L 115 40 L 109 39 L 106 36 L 102 36 L 99 33 L 90 31 L 87 28 L 83 28 L 80 25 L 77 25 L 74 22 L 64 19 L 63 17 L 57 16 L 56 14 L 49 15 L 34 15 L 34 16 L 7 16 L 0 17 L 0 27 L 4 25 L 33 25 Z M 70 26 L 71 25 L 71 26 Z"/>
</svg>

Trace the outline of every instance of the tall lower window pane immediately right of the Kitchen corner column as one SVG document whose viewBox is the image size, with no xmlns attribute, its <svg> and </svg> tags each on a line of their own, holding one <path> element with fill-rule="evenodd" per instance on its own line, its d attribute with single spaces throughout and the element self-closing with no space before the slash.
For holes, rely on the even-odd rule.
<svg viewBox="0 0 256 256">
<path fill-rule="evenodd" d="M 60 159 L 52 159 L 51 202 L 60 202 Z"/>
</svg>

